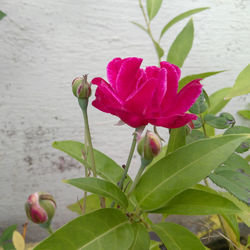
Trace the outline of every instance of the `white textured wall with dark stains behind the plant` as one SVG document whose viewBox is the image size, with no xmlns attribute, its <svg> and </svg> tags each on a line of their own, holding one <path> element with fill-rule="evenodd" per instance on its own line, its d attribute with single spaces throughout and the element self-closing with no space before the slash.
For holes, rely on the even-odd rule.
<svg viewBox="0 0 250 250">
<path fill-rule="evenodd" d="M 157 33 L 178 13 L 203 6 L 211 9 L 194 16 L 195 41 L 183 75 L 228 70 L 204 81 L 212 93 L 233 85 L 250 61 L 250 1 L 164 0 L 153 29 Z M 37 190 L 54 194 L 58 227 L 74 217 L 66 205 L 81 197 L 61 179 L 84 172 L 51 147 L 54 140 L 83 137 L 72 79 L 83 73 L 105 77 L 107 62 L 117 56 L 143 57 L 144 65 L 156 64 L 155 52 L 146 34 L 130 23 L 143 23 L 136 0 L 1 0 L 0 9 L 8 14 L 0 21 L 0 229 L 25 222 L 23 203 Z M 171 28 L 163 47 L 169 47 L 186 21 Z M 235 98 L 227 110 L 235 113 L 249 101 Z M 116 122 L 90 108 L 94 146 L 122 164 L 133 130 L 113 126 Z M 29 239 L 44 235 L 30 225 Z"/>
</svg>

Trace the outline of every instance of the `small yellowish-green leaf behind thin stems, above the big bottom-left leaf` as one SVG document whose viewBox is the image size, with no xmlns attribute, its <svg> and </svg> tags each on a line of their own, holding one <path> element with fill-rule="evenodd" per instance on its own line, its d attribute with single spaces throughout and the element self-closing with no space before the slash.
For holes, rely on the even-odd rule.
<svg viewBox="0 0 250 250">
<path fill-rule="evenodd" d="M 106 198 L 105 203 L 107 207 L 110 207 L 112 200 Z M 81 205 L 83 204 L 83 199 L 80 199 L 79 201 L 67 206 L 67 208 L 72 212 L 82 215 L 80 204 Z M 87 201 L 86 201 L 85 213 L 87 214 L 87 213 L 93 212 L 95 210 L 98 210 L 99 208 L 100 208 L 100 197 L 96 194 L 88 195 Z"/>
</svg>

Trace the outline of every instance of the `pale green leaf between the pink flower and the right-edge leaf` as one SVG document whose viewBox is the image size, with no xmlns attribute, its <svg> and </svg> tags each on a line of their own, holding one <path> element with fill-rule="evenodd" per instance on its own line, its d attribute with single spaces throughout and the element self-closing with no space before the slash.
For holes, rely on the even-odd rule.
<svg viewBox="0 0 250 250">
<path fill-rule="evenodd" d="M 228 95 L 232 88 L 224 88 L 214 92 L 210 97 L 210 107 L 207 113 L 216 115 L 220 112 L 230 100 L 225 100 L 224 98 Z"/>
</svg>

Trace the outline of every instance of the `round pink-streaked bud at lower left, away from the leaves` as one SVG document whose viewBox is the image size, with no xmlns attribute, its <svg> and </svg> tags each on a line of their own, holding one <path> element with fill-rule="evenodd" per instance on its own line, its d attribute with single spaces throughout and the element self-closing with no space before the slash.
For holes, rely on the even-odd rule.
<svg viewBox="0 0 250 250">
<path fill-rule="evenodd" d="M 49 225 L 54 216 L 56 202 L 52 195 L 43 192 L 31 194 L 26 203 L 27 217 L 36 224 Z"/>
</svg>

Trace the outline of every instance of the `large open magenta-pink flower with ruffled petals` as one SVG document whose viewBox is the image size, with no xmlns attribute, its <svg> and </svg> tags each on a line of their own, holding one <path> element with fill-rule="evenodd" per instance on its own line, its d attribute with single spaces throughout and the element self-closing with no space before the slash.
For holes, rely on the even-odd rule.
<svg viewBox="0 0 250 250">
<path fill-rule="evenodd" d="M 160 67 L 144 70 L 141 63 L 136 57 L 113 59 L 107 66 L 109 83 L 100 77 L 92 80 L 98 86 L 93 106 L 134 128 L 148 123 L 178 128 L 197 119 L 186 112 L 202 91 L 199 79 L 177 93 L 181 74 L 177 66 L 161 62 Z"/>
</svg>

